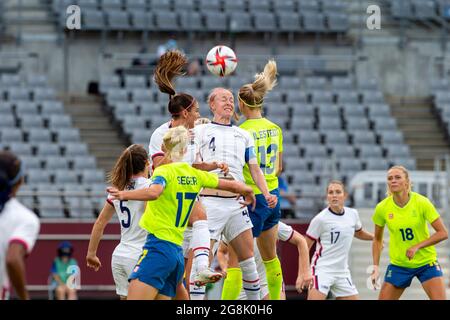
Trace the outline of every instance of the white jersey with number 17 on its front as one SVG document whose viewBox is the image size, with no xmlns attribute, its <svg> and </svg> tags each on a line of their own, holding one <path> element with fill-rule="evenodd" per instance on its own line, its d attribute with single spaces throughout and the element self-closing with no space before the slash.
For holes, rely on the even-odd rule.
<svg viewBox="0 0 450 320">
<path fill-rule="evenodd" d="M 348 255 L 355 231 L 362 225 L 358 211 L 344 207 L 343 214 L 329 208 L 317 214 L 309 224 L 306 235 L 316 241 L 316 252 L 312 258 L 312 273 L 319 271 L 349 273 Z"/>
</svg>

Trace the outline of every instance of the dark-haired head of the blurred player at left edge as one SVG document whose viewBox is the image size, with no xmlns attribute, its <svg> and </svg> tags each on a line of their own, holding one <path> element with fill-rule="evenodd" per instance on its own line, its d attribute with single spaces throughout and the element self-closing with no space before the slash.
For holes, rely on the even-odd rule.
<svg viewBox="0 0 450 320">
<path fill-rule="evenodd" d="M 9 151 L 0 151 L 0 212 L 22 178 L 21 161 Z"/>
</svg>

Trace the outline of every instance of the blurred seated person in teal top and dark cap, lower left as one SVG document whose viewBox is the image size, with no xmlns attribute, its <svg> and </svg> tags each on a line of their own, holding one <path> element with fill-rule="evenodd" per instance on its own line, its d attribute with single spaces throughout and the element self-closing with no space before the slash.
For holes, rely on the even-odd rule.
<svg viewBox="0 0 450 320">
<path fill-rule="evenodd" d="M 57 300 L 77 300 L 77 291 L 70 281 L 69 277 L 78 269 L 77 261 L 72 258 L 73 246 L 69 241 L 63 241 L 58 246 L 58 256 L 53 260 L 52 277 L 56 282 Z M 75 267 L 75 268 L 73 268 Z M 73 270 L 72 270 L 73 269 Z"/>
</svg>

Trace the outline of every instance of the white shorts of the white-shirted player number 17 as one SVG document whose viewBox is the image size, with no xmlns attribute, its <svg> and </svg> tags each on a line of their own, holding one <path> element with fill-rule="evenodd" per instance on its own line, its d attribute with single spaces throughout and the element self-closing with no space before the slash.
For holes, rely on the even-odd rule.
<svg viewBox="0 0 450 320">
<path fill-rule="evenodd" d="M 350 273 L 316 272 L 313 276 L 314 288 L 324 295 L 331 293 L 335 297 L 349 297 L 358 294 Z"/>
</svg>

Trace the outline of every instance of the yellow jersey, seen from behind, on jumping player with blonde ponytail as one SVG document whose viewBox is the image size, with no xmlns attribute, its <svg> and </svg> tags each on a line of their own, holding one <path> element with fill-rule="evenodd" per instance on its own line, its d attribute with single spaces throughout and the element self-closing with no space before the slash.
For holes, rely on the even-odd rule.
<svg viewBox="0 0 450 320">
<path fill-rule="evenodd" d="M 283 152 L 283 132 L 279 126 L 266 118 L 248 119 L 240 128 L 249 132 L 255 140 L 255 152 L 259 167 L 266 178 L 269 191 L 278 188 L 278 153 Z M 244 167 L 245 183 L 255 194 L 261 194 L 250 174 L 248 164 Z"/>
</svg>

